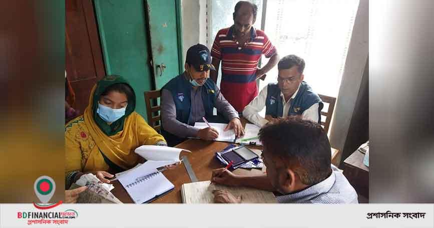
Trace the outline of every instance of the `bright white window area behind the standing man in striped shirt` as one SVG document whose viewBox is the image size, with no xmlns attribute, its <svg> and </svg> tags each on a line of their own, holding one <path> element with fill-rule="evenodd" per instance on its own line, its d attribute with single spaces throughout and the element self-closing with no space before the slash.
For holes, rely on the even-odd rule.
<svg viewBox="0 0 434 228">
<path fill-rule="evenodd" d="M 220 29 L 233 25 L 232 13 L 237 2 L 208 1 L 209 48 Z M 260 29 L 263 1 L 250 2 L 258 6 L 254 27 Z M 295 54 L 304 59 L 304 80 L 318 94 L 338 96 L 358 3 L 359 0 L 267 1 L 265 34 L 280 57 Z M 267 61 L 263 57 L 262 66 Z M 277 66 L 267 73 L 265 81 L 260 81 L 259 90 L 276 81 Z M 261 112 L 264 113 L 265 110 Z"/>
</svg>

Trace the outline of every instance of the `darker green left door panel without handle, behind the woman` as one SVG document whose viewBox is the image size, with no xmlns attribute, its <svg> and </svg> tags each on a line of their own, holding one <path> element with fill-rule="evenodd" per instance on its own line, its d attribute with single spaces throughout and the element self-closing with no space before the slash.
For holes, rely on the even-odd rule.
<svg viewBox="0 0 434 228">
<path fill-rule="evenodd" d="M 125 77 L 136 92 L 136 112 L 147 119 L 144 92 L 154 89 L 143 0 L 95 0 L 107 74 Z"/>
</svg>

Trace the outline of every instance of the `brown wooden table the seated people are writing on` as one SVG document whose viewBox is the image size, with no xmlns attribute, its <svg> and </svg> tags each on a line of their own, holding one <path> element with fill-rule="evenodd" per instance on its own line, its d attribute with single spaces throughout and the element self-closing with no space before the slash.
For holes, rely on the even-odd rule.
<svg viewBox="0 0 434 228">
<path fill-rule="evenodd" d="M 248 121 L 244 118 L 241 118 L 241 123 L 243 126 Z M 200 139 L 188 139 L 180 144 L 178 144 L 177 148 L 183 148 L 192 151 L 192 153 L 182 151 L 180 157 L 187 156 L 190 164 L 196 174 L 196 177 L 199 181 L 205 181 L 211 179 L 211 173 L 213 169 L 223 168 L 224 165 L 220 163 L 215 157 L 215 153 L 223 150 L 226 146 L 228 146 L 229 142 L 217 142 L 217 141 L 205 141 Z M 260 155 L 262 146 L 247 146 L 253 152 Z M 333 158 L 337 157 L 339 151 L 331 148 L 331 156 Z M 235 174 L 260 174 L 265 171 L 265 167 L 263 170 L 260 169 L 244 169 L 238 168 L 234 170 Z M 175 185 L 175 189 L 168 194 L 152 201 L 152 203 L 182 203 L 181 198 L 181 185 L 184 183 L 190 183 L 190 177 L 185 170 L 184 164 L 178 165 L 175 169 L 163 171 L 163 174 L 167 177 L 170 182 Z M 124 203 L 133 203 L 133 200 L 128 195 L 128 192 L 119 182 L 116 180 L 113 182 L 114 189 L 112 193 L 119 198 Z"/>
</svg>

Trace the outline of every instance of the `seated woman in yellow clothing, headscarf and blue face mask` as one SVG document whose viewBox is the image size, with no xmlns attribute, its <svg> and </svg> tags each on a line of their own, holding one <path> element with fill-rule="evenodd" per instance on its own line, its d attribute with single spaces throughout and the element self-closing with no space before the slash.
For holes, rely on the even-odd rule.
<svg viewBox="0 0 434 228">
<path fill-rule="evenodd" d="M 106 76 L 94 86 L 84 114 L 65 126 L 67 189 L 90 172 L 109 183 L 109 172 L 137 165 L 137 147 L 167 145 L 135 108 L 134 90 L 121 76 Z"/>
</svg>

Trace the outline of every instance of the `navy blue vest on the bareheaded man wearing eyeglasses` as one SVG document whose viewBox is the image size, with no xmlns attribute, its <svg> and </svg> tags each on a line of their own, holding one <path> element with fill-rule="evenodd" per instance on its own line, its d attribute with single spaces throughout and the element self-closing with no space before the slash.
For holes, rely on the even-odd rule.
<svg viewBox="0 0 434 228">
<path fill-rule="evenodd" d="M 288 110 L 288 116 L 301 115 L 306 109 L 315 103 L 318 107 L 318 123 L 321 123 L 321 109 L 324 106 L 319 96 L 312 91 L 305 81 L 302 81 L 297 95 L 291 100 L 291 107 Z M 280 96 L 280 89 L 276 83 L 268 84 L 267 100 L 265 101 L 265 115 L 271 115 L 273 118 L 283 116 L 283 98 Z"/>
</svg>

